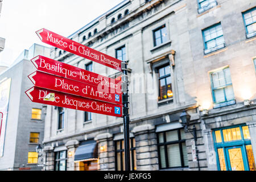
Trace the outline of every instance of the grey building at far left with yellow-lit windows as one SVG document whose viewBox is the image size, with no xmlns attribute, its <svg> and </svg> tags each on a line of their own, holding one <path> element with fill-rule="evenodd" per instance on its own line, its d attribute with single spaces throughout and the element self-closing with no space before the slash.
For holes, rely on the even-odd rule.
<svg viewBox="0 0 256 182">
<path fill-rule="evenodd" d="M 0 73 L 0 171 L 39 171 L 36 146 L 43 142 L 46 107 L 33 103 L 25 94 L 33 86 L 27 77 L 36 71 L 30 59 L 49 56 L 48 47 L 33 44 Z M 9 86 L 5 86 L 9 82 Z"/>
</svg>

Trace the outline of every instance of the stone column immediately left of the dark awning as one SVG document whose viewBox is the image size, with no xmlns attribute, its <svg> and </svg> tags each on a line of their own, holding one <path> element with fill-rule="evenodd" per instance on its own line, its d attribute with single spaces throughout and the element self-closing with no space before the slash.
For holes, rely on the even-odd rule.
<svg viewBox="0 0 256 182">
<path fill-rule="evenodd" d="M 77 140 L 69 140 L 65 143 L 65 146 L 68 148 L 67 150 L 67 171 L 78 171 L 79 167 L 74 162 L 76 148 L 79 146 L 79 141 Z"/>
</svg>

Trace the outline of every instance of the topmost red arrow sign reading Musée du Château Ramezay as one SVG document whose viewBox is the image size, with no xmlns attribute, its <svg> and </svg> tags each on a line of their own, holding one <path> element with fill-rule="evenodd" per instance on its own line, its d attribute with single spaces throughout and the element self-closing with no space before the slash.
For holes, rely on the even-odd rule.
<svg viewBox="0 0 256 182">
<path fill-rule="evenodd" d="M 71 52 L 75 55 L 84 57 L 86 59 L 95 61 L 97 63 L 103 64 L 107 67 L 117 69 L 121 71 L 122 61 L 115 59 L 112 56 L 106 55 L 105 53 L 96 51 L 95 49 L 86 47 L 80 43 L 77 43 L 71 39 L 65 38 L 64 36 L 55 34 L 45 28 L 36 31 L 39 38 L 43 43 L 49 44 L 51 46 L 63 49 L 64 51 Z"/>
</svg>

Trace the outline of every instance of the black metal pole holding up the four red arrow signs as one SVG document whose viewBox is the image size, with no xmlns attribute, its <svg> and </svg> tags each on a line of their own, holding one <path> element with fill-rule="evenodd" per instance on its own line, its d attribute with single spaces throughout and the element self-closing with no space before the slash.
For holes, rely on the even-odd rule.
<svg viewBox="0 0 256 182">
<path fill-rule="evenodd" d="M 122 63 L 122 101 L 123 101 L 123 135 L 125 142 L 125 171 L 130 171 L 130 117 L 129 117 L 129 101 L 128 101 L 128 71 L 127 61 Z"/>
</svg>

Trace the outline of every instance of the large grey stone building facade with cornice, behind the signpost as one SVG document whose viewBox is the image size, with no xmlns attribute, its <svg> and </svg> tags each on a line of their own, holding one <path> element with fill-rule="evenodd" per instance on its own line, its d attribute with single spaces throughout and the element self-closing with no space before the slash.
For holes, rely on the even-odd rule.
<svg viewBox="0 0 256 182">
<path fill-rule="evenodd" d="M 255 6 L 126 0 L 68 37 L 129 61 L 131 169 L 255 169 Z M 57 48 L 51 57 L 121 75 Z M 122 170 L 122 143 L 122 118 L 47 106 L 44 170 Z"/>
</svg>

